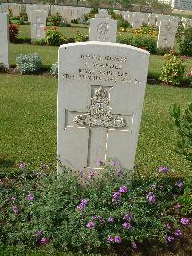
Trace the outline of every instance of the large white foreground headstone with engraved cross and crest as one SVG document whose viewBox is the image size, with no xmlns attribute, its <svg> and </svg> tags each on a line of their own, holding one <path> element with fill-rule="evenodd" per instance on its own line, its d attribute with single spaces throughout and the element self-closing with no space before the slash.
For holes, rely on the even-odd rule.
<svg viewBox="0 0 192 256">
<path fill-rule="evenodd" d="M 133 169 L 149 53 L 90 41 L 61 45 L 58 56 L 60 162 L 75 170 L 100 169 L 98 160 L 112 157 Z"/>
</svg>

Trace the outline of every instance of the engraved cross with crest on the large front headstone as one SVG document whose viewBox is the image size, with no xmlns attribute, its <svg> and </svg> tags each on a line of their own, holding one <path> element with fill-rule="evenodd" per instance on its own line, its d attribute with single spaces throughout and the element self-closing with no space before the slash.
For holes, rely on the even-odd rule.
<svg viewBox="0 0 192 256">
<path fill-rule="evenodd" d="M 88 129 L 88 155 L 85 168 L 96 166 L 98 159 L 106 161 L 108 133 L 132 132 L 133 114 L 113 114 L 110 103 L 112 87 L 91 86 L 91 104 L 88 112 L 65 109 L 64 129 Z M 126 119 L 129 119 L 127 122 Z M 94 157 L 93 157 L 94 156 Z M 97 156 L 95 158 L 95 156 Z M 100 169 L 101 167 L 94 167 Z"/>
</svg>

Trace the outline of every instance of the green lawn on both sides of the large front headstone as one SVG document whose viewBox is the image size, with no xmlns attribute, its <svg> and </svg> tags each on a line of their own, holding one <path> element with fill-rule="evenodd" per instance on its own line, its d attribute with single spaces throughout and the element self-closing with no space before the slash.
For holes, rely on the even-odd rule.
<svg viewBox="0 0 192 256">
<path fill-rule="evenodd" d="M 41 163 L 56 166 L 57 79 L 46 76 L 0 75 L 1 166 L 7 171 L 24 161 L 35 168 Z M 157 166 L 183 171 L 177 135 L 169 128 L 169 108 L 184 108 L 192 99 L 189 88 L 147 86 L 136 166 L 143 174 Z"/>
</svg>

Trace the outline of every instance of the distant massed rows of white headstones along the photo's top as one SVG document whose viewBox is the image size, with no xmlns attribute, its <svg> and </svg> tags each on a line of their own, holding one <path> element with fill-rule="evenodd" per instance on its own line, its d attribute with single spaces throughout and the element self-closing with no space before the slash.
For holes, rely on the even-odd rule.
<svg viewBox="0 0 192 256">
<path fill-rule="evenodd" d="M 14 17 L 20 16 L 20 13 L 27 13 L 28 20 L 30 21 L 30 13 L 32 10 L 44 10 L 47 15 L 53 15 L 60 13 L 60 15 L 67 21 L 71 21 L 77 18 L 83 18 L 84 14 L 90 12 L 90 8 L 86 7 L 74 7 L 74 6 L 60 6 L 60 5 L 30 5 L 30 4 L 13 4 L 2 3 L 0 5 L 0 13 L 9 13 L 9 9 L 12 10 Z M 115 10 L 116 14 L 121 14 L 125 20 L 127 20 L 133 28 L 139 28 L 143 23 L 148 25 L 156 25 L 159 27 L 161 21 L 170 20 L 173 22 L 179 22 L 182 20 L 184 25 L 192 25 L 192 19 L 183 18 L 178 16 L 161 15 L 161 14 L 149 14 L 141 12 L 129 12 Z"/>
</svg>

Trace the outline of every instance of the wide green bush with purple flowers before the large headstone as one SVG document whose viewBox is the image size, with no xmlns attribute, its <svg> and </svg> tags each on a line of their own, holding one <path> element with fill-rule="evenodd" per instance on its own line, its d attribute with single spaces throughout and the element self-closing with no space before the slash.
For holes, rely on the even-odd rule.
<svg viewBox="0 0 192 256">
<path fill-rule="evenodd" d="M 174 208 L 183 194 L 178 178 L 161 166 L 156 178 L 135 177 L 131 183 L 117 161 L 101 165 L 103 178 L 92 170 L 76 175 L 64 169 L 58 178 L 38 172 L 3 184 L 1 245 L 48 243 L 65 251 L 108 252 L 143 241 L 178 240 L 190 222 Z"/>
</svg>

